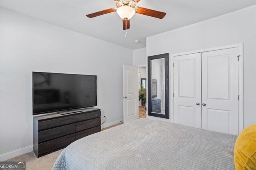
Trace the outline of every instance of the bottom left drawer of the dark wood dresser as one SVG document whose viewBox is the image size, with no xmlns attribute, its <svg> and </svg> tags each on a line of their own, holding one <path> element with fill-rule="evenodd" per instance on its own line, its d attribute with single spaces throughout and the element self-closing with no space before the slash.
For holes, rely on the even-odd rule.
<svg viewBox="0 0 256 170">
<path fill-rule="evenodd" d="M 44 154 L 46 152 L 50 152 L 54 149 L 62 148 L 70 143 L 76 141 L 76 134 L 68 135 L 65 137 L 60 137 L 58 139 L 54 139 L 52 141 L 40 143 L 38 145 L 38 154 Z"/>
</svg>

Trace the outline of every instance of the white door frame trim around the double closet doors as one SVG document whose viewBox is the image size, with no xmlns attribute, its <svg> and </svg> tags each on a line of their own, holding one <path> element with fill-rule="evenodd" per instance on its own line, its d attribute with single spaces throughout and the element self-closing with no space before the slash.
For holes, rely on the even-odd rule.
<svg viewBox="0 0 256 170">
<path fill-rule="evenodd" d="M 214 47 L 214 48 L 208 48 L 208 49 L 200 49 L 195 51 L 188 51 L 184 53 L 177 53 L 172 54 L 170 59 L 170 119 L 171 122 L 174 122 L 174 57 L 182 56 L 182 55 L 188 55 L 188 54 L 194 54 L 194 53 L 202 53 L 202 52 L 209 52 L 209 51 L 216 51 L 216 50 L 222 50 L 222 49 L 230 49 L 230 48 L 238 48 L 238 132 L 239 134 L 244 129 L 244 92 L 243 92 L 243 43 L 233 44 L 233 45 L 226 45 L 221 47 Z"/>
</svg>

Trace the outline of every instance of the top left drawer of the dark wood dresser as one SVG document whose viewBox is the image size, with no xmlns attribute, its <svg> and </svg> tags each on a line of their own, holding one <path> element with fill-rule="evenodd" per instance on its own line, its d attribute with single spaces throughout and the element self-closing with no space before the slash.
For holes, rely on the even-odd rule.
<svg viewBox="0 0 256 170">
<path fill-rule="evenodd" d="M 38 130 L 43 130 L 43 129 L 48 129 L 51 127 L 56 127 L 60 125 L 66 125 L 69 123 L 74 123 L 75 122 L 75 116 L 65 116 L 61 118 L 56 118 L 56 119 L 50 119 L 46 121 L 40 121 L 38 122 Z"/>
</svg>

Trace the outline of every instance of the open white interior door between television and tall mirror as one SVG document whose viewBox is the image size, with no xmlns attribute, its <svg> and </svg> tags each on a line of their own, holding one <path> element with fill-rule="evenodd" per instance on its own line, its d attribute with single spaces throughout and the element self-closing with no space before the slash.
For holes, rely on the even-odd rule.
<svg viewBox="0 0 256 170">
<path fill-rule="evenodd" d="M 138 67 L 124 65 L 124 123 L 138 119 Z"/>
</svg>

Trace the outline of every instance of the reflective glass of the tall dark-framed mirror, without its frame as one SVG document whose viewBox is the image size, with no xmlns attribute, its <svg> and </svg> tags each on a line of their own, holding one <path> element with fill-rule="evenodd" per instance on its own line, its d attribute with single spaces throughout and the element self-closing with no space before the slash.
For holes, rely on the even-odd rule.
<svg viewBox="0 0 256 170">
<path fill-rule="evenodd" d="M 152 113 L 165 114 L 164 58 L 151 60 Z"/>
</svg>

